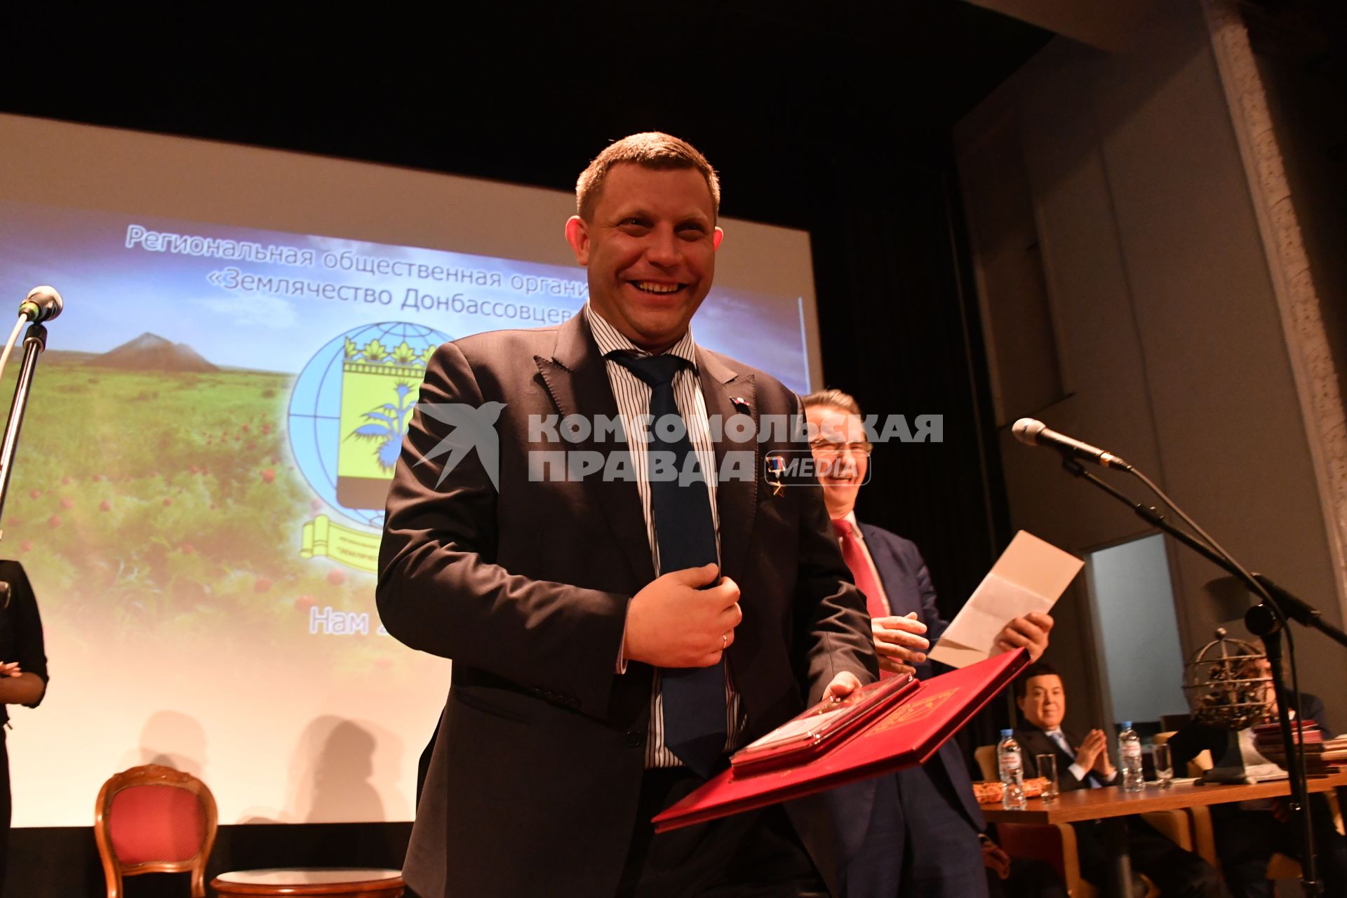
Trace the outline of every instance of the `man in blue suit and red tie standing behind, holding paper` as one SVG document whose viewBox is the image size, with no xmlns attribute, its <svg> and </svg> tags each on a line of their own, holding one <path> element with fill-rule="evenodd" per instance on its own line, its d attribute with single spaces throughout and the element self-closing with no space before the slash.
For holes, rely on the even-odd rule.
<svg viewBox="0 0 1347 898">
<path fill-rule="evenodd" d="M 857 586 L 866 594 L 880 666 L 890 676 L 938 670 L 927 649 L 948 622 L 916 544 L 855 517 L 870 444 L 857 401 L 841 390 L 804 397 L 823 497 Z M 999 648 L 1048 646 L 1052 618 L 1016 618 Z M 987 894 L 978 833 L 986 828 L 955 742 L 925 765 L 830 793 L 846 898 L 977 898 Z"/>
</svg>

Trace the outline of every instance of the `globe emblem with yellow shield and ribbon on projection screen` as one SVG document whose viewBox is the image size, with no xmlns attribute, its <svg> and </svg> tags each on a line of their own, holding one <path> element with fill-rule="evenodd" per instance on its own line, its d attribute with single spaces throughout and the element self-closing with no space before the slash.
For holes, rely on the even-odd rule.
<svg viewBox="0 0 1347 898">
<path fill-rule="evenodd" d="M 319 514 L 300 555 L 374 571 L 384 499 L 426 365 L 449 334 L 407 322 L 362 324 L 323 345 L 290 396 L 290 447 L 299 473 L 354 530 Z"/>
</svg>

